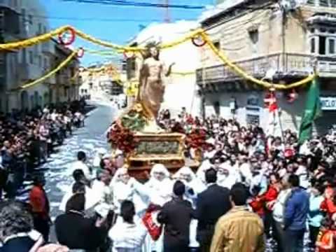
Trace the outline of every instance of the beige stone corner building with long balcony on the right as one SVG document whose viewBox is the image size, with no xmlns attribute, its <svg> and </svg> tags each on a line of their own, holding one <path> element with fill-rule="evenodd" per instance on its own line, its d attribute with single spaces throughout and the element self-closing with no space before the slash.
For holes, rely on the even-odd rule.
<svg viewBox="0 0 336 252">
<path fill-rule="evenodd" d="M 255 78 L 267 78 L 267 73 L 272 73 L 274 83 L 293 83 L 307 77 L 316 65 L 321 99 L 329 101 L 323 102 L 323 117 L 316 121 L 316 130 L 325 132 L 335 123 L 334 1 L 223 1 L 202 15 L 201 24 L 214 45 Z M 197 85 L 204 116 L 218 114 L 235 117 L 242 124 L 267 127 L 269 113 L 264 99 L 268 90 L 237 76 L 209 47 L 204 46 L 201 54 Z M 276 92 L 283 130 L 300 127 L 307 86 Z M 286 99 L 288 92 L 297 92 L 294 102 Z"/>
</svg>

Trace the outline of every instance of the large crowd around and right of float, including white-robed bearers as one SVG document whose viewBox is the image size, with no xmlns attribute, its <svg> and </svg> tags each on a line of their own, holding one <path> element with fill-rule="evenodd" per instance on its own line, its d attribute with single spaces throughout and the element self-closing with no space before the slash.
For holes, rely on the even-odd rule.
<svg viewBox="0 0 336 252">
<path fill-rule="evenodd" d="M 185 110 L 170 117 L 169 111 L 160 116 L 167 131 L 207 132 L 197 171 L 171 174 L 156 164 L 140 183 L 122 151 L 111 157 L 98 150 L 92 167 L 78 152 L 71 190 L 59 206 L 63 214 L 55 219 L 59 246 L 50 251 L 336 251 L 335 132 L 299 145 L 290 130 L 274 137 L 235 119 L 202 120 Z M 193 148 L 186 151 L 194 155 Z M 3 247 L 24 238 L 32 246 L 34 230 L 48 241 L 48 197 L 43 179 L 34 181 L 31 220 L 23 221 L 27 214 L 0 224 Z M 0 206 L 0 223 L 11 204 L 18 202 Z M 6 230 L 10 225 L 16 229 Z"/>
</svg>

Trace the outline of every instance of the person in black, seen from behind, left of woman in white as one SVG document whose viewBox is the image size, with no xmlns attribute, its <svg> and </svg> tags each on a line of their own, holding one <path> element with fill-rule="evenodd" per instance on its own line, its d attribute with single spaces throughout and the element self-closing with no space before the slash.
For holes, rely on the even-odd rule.
<svg viewBox="0 0 336 252">
<path fill-rule="evenodd" d="M 55 230 L 59 244 L 70 249 L 92 251 L 104 244 L 108 227 L 104 220 L 84 216 L 85 195 L 73 195 L 66 203 L 66 214 L 56 218 Z"/>
</svg>

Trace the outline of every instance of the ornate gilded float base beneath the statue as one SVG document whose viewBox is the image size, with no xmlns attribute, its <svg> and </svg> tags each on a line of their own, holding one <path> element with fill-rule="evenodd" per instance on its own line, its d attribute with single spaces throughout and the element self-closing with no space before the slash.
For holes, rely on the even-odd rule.
<svg viewBox="0 0 336 252">
<path fill-rule="evenodd" d="M 130 174 L 139 177 L 155 164 L 174 172 L 183 167 L 185 135 L 179 133 L 137 133 L 137 147 L 127 158 Z"/>
</svg>

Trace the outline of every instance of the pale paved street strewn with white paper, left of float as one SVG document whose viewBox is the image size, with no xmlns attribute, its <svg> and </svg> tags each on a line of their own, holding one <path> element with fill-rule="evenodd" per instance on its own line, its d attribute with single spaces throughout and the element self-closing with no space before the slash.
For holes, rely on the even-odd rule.
<svg viewBox="0 0 336 252">
<path fill-rule="evenodd" d="M 71 176 L 71 164 L 76 161 L 78 151 L 85 151 L 88 162 L 92 162 L 97 148 L 109 146 L 106 142 L 106 130 L 115 116 L 115 110 L 106 104 L 99 104 L 97 109 L 90 111 L 85 120 L 85 127 L 75 129 L 73 136 L 67 138 L 62 146 L 57 148 L 48 162 L 38 168 L 44 172 L 47 184 L 45 190 L 48 193 L 51 207 L 52 219 L 59 214 L 59 202 L 62 200 L 64 192 L 71 188 L 73 182 Z M 31 182 L 25 182 L 25 192 L 20 195 L 20 199 L 27 200 L 28 190 Z"/>
</svg>

